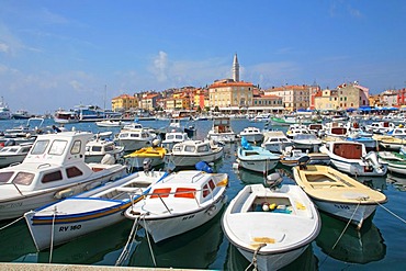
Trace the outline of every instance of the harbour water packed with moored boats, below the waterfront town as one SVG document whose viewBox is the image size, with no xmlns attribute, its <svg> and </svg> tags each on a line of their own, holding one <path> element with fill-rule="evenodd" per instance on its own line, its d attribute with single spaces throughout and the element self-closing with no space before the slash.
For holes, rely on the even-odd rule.
<svg viewBox="0 0 406 271">
<path fill-rule="evenodd" d="M 3 246 L 0 261 L 217 270 L 371 270 L 390 261 L 397 268 L 406 236 L 392 229 L 406 228 L 404 145 L 394 129 L 366 129 L 374 122 L 324 121 L 315 132 L 300 122 L 224 116 L 179 126 L 66 123 L 54 133 L 58 125 L 46 120 L 49 132 L 22 142 L 33 146 L 26 158 L 0 169 L 0 241 L 21 244 Z M 0 124 L 5 131 L 21 122 Z M 182 140 L 159 146 L 180 129 Z M 384 145 L 391 136 L 394 146 Z M 362 143 L 368 137 L 375 146 Z M 109 151 L 89 161 L 89 151 L 103 146 Z M 205 162 L 194 167 L 199 161 Z M 374 253 L 362 247 L 369 235 L 380 248 Z M 345 249 L 357 249 L 358 259 Z"/>
</svg>

